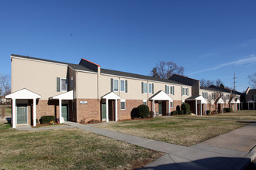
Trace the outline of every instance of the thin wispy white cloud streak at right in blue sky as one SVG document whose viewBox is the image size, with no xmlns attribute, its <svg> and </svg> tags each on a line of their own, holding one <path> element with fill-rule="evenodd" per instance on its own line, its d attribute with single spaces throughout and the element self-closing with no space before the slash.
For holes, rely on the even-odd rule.
<svg viewBox="0 0 256 170">
<path fill-rule="evenodd" d="M 222 68 L 223 66 L 240 66 L 240 65 L 244 65 L 244 64 L 251 64 L 256 62 L 256 56 L 253 54 L 245 59 L 238 59 L 236 61 L 232 61 L 230 63 L 223 63 L 220 64 L 220 66 L 215 66 L 209 69 L 205 69 L 205 70 L 199 70 L 199 71 L 195 71 L 194 73 L 190 73 L 189 75 L 193 75 L 196 73 L 202 73 L 202 72 L 206 72 L 206 71 L 212 71 L 212 70 L 218 70 L 220 68 Z"/>
</svg>

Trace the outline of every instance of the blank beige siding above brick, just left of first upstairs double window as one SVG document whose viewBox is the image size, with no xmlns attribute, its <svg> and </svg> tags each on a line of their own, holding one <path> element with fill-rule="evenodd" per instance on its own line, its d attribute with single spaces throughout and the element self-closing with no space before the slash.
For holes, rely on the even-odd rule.
<svg viewBox="0 0 256 170">
<path fill-rule="evenodd" d="M 76 77 L 78 98 L 97 99 L 97 73 L 79 72 Z"/>
</svg>

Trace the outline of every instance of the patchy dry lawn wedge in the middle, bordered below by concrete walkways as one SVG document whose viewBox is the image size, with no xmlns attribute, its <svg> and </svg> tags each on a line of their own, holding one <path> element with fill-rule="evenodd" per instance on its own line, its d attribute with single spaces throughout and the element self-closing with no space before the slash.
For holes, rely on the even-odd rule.
<svg viewBox="0 0 256 170">
<path fill-rule="evenodd" d="M 119 121 L 102 124 L 99 128 L 137 135 L 156 141 L 191 146 L 209 138 L 240 128 L 247 123 L 156 117 L 147 121 Z"/>
</svg>

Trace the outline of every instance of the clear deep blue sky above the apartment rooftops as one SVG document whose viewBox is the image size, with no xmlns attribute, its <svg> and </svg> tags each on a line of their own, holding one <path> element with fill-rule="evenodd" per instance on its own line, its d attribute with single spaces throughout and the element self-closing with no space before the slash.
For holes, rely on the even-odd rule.
<svg viewBox="0 0 256 170">
<path fill-rule="evenodd" d="M 0 73 L 11 53 L 150 75 L 173 61 L 185 75 L 237 90 L 256 71 L 256 1 L 0 0 Z"/>
</svg>

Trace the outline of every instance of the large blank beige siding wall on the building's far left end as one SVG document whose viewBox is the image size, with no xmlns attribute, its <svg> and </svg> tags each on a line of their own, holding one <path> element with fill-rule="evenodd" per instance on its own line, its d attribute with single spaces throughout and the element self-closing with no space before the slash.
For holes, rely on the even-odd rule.
<svg viewBox="0 0 256 170">
<path fill-rule="evenodd" d="M 12 57 L 12 92 L 26 88 L 48 100 L 57 94 L 57 77 L 67 78 L 67 65 Z"/>
</svg>

